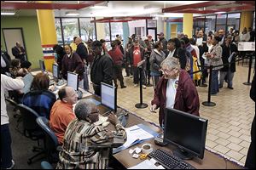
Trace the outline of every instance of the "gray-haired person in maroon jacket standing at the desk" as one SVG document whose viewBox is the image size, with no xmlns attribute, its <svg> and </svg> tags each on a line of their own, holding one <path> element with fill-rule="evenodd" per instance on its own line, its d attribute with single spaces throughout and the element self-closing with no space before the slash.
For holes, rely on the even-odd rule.
<svg viewBox="0 0 256 170">
<path fill-rule="evenodd" d="M 160 70 L 163 72 L 163 76 L 154 89 L 154 99 L 152 99 L 150 107 L 152 112 L 160 107 L 160 127 L 164 125 L 166 108 L 174 108 L 199 116 L 200 104 L 195 84 L 189 73 L 180 69 L 178 59 L 166 58 L 161 63 Z"/>
</svg>

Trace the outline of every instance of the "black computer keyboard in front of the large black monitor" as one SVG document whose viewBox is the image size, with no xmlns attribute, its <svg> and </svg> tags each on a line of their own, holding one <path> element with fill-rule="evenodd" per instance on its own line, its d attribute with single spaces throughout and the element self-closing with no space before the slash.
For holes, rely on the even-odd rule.
<svg viewBox="0 0 256 170">
<path fill-rule="evenodd" d="M 153 150 L 148 156 L 154 158 L 163 167 L 166 167 L 167 169 L 195 169 L 195 167 L 193 167 L 186 161 L 183 161 L 177 156 L 173 156 L 166 150 Z"/>
</svg>

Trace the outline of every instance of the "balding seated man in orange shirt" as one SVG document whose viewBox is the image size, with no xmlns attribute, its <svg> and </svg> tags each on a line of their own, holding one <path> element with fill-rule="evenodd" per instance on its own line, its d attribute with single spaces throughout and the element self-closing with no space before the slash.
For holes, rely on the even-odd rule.
<svg viewBox="0 0 256 170">
<path fill-rule="evenodd" d="M 49 127 L 63 144 L 64 133 L 69 122 L 76 118 L 73 104 L 78 101 L 78 94 L 71 87 L 63 87 L 58 92 L 59 100 L 52 106 L 49 116 Z"/>
</svg>

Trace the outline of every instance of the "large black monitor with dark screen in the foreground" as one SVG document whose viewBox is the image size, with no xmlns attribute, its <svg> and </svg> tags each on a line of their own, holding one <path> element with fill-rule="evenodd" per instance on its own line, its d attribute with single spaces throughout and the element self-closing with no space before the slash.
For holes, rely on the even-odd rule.
<svg viewBox="0 0 256 170">
<path fill-rule="evenodd" d="M 173 155 L 181 159 L 204 157 L 207 119 L 175 109 L 166 109 L 164 141 L 177 146 Z"/>
</svg>

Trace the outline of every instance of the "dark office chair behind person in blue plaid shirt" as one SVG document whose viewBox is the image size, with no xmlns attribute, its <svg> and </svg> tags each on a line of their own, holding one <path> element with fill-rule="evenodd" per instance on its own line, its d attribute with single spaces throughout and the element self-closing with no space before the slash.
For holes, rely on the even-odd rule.
<svg viewBox="0 0 256 170">
<path fill-rule="evenodd" d="M 36 122 L 36 119 L 38 118 L 38 113 L 36 111 L 33 111 L 31 108 L 27 107 L 26 105 L 19 104 L 17 105 L 17 109 L 20 110 L 20 114 L 23 119 L 23 134 L 29 139 L 37 140 L 38 146 L 39 139 L 44 139 L 44 133 L 41 131 L 40 127 L 38 126 L 38 123 Z M 33 146 L 32 151 L 39 151 L 38 154 L 35 156 L 32 156 L 28 158 L 27 163 L 31 164 L 32 159 L 34 159 L 37 156 L 40 156 L 41 154 L 44 154 L 44 149 L 41 147 Z"/>
</svg>

